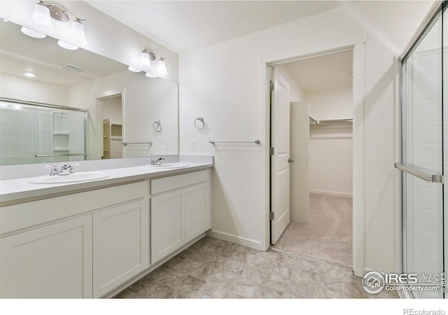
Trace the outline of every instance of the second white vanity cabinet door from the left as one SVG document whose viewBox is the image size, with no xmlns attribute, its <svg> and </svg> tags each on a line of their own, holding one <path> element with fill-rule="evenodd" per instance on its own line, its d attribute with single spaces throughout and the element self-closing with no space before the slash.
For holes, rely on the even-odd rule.
<svg viewBox="0 0 448 315">
<path fill-rule="evenodd" d="M 149 267 L 148 200 L 93 214 L 93 297 Z"/>
</svg>

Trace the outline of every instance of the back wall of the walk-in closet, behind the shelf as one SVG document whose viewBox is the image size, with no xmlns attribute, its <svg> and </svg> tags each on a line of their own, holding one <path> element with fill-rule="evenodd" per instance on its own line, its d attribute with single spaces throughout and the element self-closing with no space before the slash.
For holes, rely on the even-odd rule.
<svg viewBox="0 0 448 315">
<path fill-rule="evenodd" d="M 353 118 L 353 89 L 305 93 L 311 116 L 318 120 Z M 309 125 L 309 190 L 350 197 L 353 191 L 351 123 Z"/>
</svg>

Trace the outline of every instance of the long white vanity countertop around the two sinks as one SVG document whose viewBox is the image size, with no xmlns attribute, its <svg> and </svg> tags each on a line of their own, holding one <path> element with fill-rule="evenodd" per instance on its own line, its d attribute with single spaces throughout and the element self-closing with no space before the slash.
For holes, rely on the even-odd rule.
<svg viewBox="0 0 448 315">
<path fill-rule="evenodd" d="M 188 162 L 187 164 L 188 167 L 178 169 L 151 168 L 148 165 L 102 169 L 98 172 L 107 173 L 111 176 L 108 176 L 105 179 L 78 183 L 29 183 L 28 181 L 31 178 L 3 180 L 0 181 L 0 207 L 8 204 L 27 202 L 30 201 L 29 198 L 35 199 L 52 197 L 51 195 L 60 195 L 64 193 L 76 193 L 77 190 L 97 189 L 102 188 L 102 186 L 113 186 L 130 181 L 172 176 L 213 167 L 213 162 Z"/>
</svg>

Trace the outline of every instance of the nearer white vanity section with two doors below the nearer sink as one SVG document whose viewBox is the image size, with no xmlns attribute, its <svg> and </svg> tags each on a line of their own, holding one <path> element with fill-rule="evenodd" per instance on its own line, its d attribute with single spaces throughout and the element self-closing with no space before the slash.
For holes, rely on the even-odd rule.
<svg viewBox="0 0 448 315">
<path fill-rule="evenodd" d="M 148 181 L 0 208 L 0 297 L 101 297 L 149 267 Z"/>
</svg>

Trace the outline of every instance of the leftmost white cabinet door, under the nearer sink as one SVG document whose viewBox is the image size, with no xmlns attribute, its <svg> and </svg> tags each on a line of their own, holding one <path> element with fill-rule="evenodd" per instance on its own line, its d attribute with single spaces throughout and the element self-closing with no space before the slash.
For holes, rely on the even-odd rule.
<svg viewBox="0 0 448 315">
<path fill-rule="evenodd" d="M 0 239 L 0 297 L 92 297 L 92 216 Z"/>
</svg>

